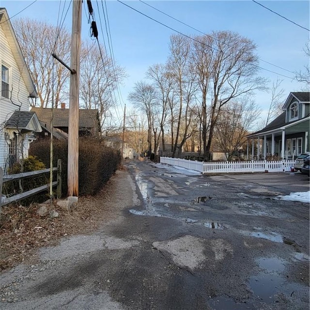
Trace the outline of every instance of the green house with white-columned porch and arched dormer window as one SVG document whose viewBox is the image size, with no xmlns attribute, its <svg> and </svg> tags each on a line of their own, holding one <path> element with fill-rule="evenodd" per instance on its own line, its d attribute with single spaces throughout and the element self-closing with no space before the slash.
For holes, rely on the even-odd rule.
<svg viewBox="0 0 310 310">
<path fill-rule="evenodd" d="M 291 158 L 309 152 L 310 93 L 290 93 L 282 110 L 284 112 L 262 130 L 248 135 L 248 139 L 252 139 L 252 158 L 268 155 Z M 257 139 L 257 155 L 253 154 L 254 139 Z"/>
</svg>

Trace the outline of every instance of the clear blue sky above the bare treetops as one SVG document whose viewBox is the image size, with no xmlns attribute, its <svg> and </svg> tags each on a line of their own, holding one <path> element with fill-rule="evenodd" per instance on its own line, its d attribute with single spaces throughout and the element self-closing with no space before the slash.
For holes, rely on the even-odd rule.
<svg viewBox="0 0 310 310">
<path fill-rule="evenodd" d="M 70 4 L 69 0 L 36 0 L 31 4 L 32 2 L 33 0 L 0 0 L 0 7 L 5 7 L 9 16 L 14 16 L 18 13 L 16 17 L 45 20 L 56 26 L 60 5 L 61 11 L 64 6 L 64 12 L 66 12 Z M 123 2 L 186 35 L 201 34 L 163 15 L 141 1 L 124 0 Z M 303 51 L 303 47 L 309 41 L 309 31 L 270 12 L 252 0 L 145 0 L 145 2 L 204 33 L 208 34 L 213 30 L 230 30 L 251 39 L 257 45 L 260 66 L 275 72 L 271 73 L 263 69 L 260 70 L 260 75 L 269 79 L 270 83 L 268 86 L 271 87 L 272 82 L 279 77 L 283 79 L 281 88 L 285 90 L 285 97 L 290 92 L 300 91 L 302 85 L 292 79 L 294 78 L 292 72 L 303 70 L 303 67 L 309 63 L 309 58 L 306 57 Z M 296 24 L 310 29 L 309 0 L 258 0 L 258 2 L 294 21 Z M 28 5 L 30 6 L 26 8 Z M 169 54 L 170 36 L 176 32 L 116 0 L 107 0 L 106 3 L 104 0 L 98 2 L 92 0 L 92 5 L 99 31 L 99 43 L 103 43 L 103 40 L 107 42 L 102 11 L 102 6 L 105 8 L 105 5 L 107 5 L 106 13 L 109 19 L 114 58 L 118 65 L 124 67 L 128 76 L 124 80 L 124 85 L 120 86 L 123 98 L 120 110 L 122 110 L 124 109 L 124 103 L 130 106 L 127 101 L 128 93 L 132 91 L 137 81 L 145 78 L 147 68 L 155 63 L 166 62 Z M 20 12 L 23 9 L 25 10 Z M 83 4 L 83 11 L 82 39 L 87 40 L 89 38 L 90 25 L 88 24 L 86 1 Z M 72 9 L 70 7 L 64 20 L 64 25 L 69 31 L 71 31 L 71 15 Z M 99 16 L 103 21 L 104 33 L 100 28 Z M 256 93 L 255 101 L 262 109 L 266 110 L 270 101 L 270 93 Z M 122 114 L 121 111 L 119 111 L 118 115 L 120 116 L 120 114 Z"/>
</svg>

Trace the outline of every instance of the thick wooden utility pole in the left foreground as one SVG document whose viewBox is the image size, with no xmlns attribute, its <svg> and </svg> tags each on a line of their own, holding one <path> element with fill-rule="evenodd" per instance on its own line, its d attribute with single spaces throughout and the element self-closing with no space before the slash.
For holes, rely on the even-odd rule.
<svg viewBox="0 0 310 310">
<path fill-rule="evenodd" d="M 68 196 L 78 196 L 78 96 L 81 50 L 82 1 L 72 1 L 71 69 L 68 132 Z"/>
</svg>

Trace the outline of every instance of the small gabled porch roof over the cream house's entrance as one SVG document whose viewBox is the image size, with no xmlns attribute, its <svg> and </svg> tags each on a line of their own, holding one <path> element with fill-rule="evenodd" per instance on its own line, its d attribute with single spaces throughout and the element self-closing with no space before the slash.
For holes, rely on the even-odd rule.
<svg viewBox="0 0 310 310">
<path fill-rule="evenodd" d="M 35 132 L 42 131 L 37 115 L 31 111 L 14 111 L 4 127 Z"/>
</svg>

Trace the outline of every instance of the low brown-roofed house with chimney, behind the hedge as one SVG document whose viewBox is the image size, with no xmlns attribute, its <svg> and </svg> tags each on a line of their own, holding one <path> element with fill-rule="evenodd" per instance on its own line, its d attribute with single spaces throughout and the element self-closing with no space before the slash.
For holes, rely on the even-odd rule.
<svg viewBox="0 0 310 310">
<path fill-rule="evenodd" d="M 41 134 L 36 134 L 36 139 L 50 138 L 51 120 L 53 115 L 53 136 L 56 139 L 67 139 L 69 130 L 69 109 L 65 109 L 62 103 L 61 109 L 51 108 L 31 108 L 38 116 L 43 128 Z M 78 110 L 78 135 L 97 136 L 100 132 L 99 113 L 97 109 L 79 109 Z"/>
</svg>

